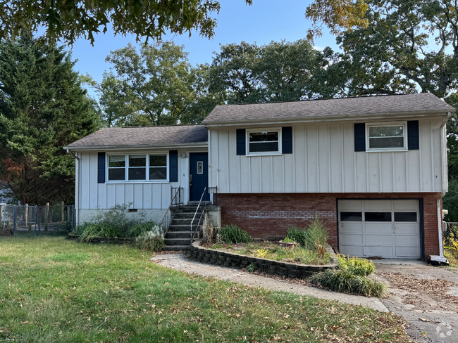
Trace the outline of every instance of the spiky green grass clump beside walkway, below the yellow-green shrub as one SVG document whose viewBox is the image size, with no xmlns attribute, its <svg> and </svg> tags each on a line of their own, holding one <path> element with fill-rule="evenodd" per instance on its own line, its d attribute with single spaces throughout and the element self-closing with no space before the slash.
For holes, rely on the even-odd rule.
<svg viewBox="0 0 458 343">
<path fill-rule="evenodd" d="M 338 292 L 366 295 L 367 297 L 384 297 L 387 286 L 366 276 L 359 276 L 347 269 L 327 269 L 309 278 L 311 283 L 320 284 Z"/>
</svg>

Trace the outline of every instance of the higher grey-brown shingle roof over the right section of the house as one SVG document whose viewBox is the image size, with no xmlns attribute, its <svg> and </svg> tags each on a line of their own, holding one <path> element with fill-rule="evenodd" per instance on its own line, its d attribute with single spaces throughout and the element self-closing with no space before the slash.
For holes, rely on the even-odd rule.
<svg viewBox="0 0 458 343">
<path fill-rule="evenodd" d="M 361 96 L 313 101 L 283 103 L 252 103 L 220 105 L 211 111 L 202 124 L 253 122 L 256 120 L 280 121 L 286 119 L 311 119 L 312 117 L 357 117 L 364 115 L 425 112 L 454 112 L 432 93 L 395 96 Z"/>
</svg>

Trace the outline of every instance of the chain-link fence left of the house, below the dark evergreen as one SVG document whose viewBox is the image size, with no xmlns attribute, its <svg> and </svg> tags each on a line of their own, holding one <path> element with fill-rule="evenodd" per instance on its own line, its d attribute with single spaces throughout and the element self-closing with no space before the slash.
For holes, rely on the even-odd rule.
<svg viewBox="0 0 458 343">
<path fill-rule="evenodd" d="M 74 205 L 0 204 L 0 230 L 14 235 L 65 235 L 75 228 Z"/>
</svg>

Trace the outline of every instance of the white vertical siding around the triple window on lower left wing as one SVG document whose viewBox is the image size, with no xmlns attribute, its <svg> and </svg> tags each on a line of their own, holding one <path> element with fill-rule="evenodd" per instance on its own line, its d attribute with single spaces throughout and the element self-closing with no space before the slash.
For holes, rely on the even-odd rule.
<svg viewBox="0 0 458 343">
<path fill-rule="evenodd" d="M 150 153 L 151 151 L 148 151 Z M 122 153 L 130 153 L 123 151 Z M 189 153 L 187 150 L 178 150 Z M 171 187 L 183 187 L 189 199 L 189 157 L 178 158 L 178 182 L 98 183 L 98 152 L 80 152 L 77 162 L 76 198 L 79 209 L 109 209 L 132 203 L 132 209 L 167 209 L 171 203 Z M 78 165 L 79 164 L 79 165 Z M 78 175 L 80 174 L 80 175 Z M 78 192 L 78 188 L 79 192 Z"/>
</svg>

